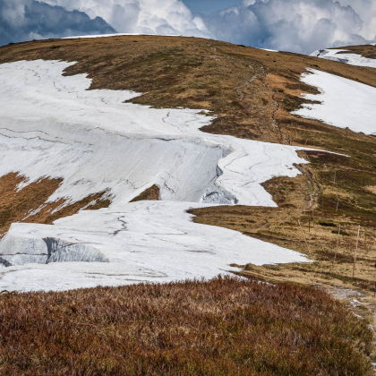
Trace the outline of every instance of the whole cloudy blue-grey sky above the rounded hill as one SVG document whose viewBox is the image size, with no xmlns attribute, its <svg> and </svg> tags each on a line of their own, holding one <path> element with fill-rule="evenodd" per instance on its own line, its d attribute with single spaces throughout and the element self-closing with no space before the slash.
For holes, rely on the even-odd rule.
<svg viewBox="0 0 376 376">
<path fill-rule="evenodd" d="M 376 42 L 376 0 L 0 0 L 0 46 L 114 32 L 310 54 Z"/>
</svg>

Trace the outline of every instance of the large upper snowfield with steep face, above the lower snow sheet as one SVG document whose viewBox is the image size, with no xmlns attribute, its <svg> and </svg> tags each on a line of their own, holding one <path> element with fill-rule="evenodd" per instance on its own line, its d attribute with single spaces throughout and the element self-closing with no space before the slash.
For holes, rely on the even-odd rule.
<svg viewBox="0 0 376 376">
<path fill-rule="evenodd" d="M 72 64 L 0 65 L 0 175 L 24 175 L 19 188 L 63 178 L 49 201 L 108 190 L 116 204 L 156 184 L 161 200 L 276 206 L 261 184 L 294 177 L 294 164 L 306 163 L 296 155 L 304 148 L 203 133 L 213 117 L 199 111 L 124 103 L 140 95 L 131 91 L 88 90 L 84 74 L 62 75 Z"/>
</svg>

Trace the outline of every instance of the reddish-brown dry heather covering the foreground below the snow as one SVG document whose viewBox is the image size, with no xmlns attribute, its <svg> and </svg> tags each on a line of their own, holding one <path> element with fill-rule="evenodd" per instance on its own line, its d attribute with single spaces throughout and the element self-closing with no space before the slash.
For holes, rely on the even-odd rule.
<svg viewBox="0 0 376 376">
<path fill-rule="evenodd" d="M 368 375 L 372 333 L 329 295 L 237 278 L 0 297 L 6 375 Z"/>
</svg>

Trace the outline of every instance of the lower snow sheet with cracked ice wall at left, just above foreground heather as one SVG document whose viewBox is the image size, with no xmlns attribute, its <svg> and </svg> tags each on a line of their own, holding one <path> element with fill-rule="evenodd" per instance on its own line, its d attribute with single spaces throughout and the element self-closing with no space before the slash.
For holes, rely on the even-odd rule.
<svg viewBox="0 0 376 376">
<path fill-rule="evenodd" d="M 83 210 L 57 220 L 53 226 L 13 224 L 0 243 L 0 254 L 7 253 L 2 257 L 23 262 L 29 257 L 29 262 L 43 263 L 0 269 L 0 291 L 61 291 L 213 278 L 238 270 L 229 266 L 234 262 L 262 265 L 307 261 L 297 252 L 239 232 L 193 223 L 186 210 L 202 206 L 138 201 L 114 209 Z M 64 239 L 64 244 L 54 247 L 49 239 Z M 89 255 L 90 260 L 86 261 L 98 257 L 102 260 L 77 262 L 76 257 L 82 252 Z M 56 260 L 48 261 L 51 254 Z M 70 262 L 56 262 L 63 258 Z M 47 261 L 51 263 L 46 264 Z"/>
</svg>

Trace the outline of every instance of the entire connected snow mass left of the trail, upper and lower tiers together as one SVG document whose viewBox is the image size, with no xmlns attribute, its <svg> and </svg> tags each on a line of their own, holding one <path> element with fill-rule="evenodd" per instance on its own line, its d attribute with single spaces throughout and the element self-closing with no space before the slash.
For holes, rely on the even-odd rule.
<svg viewBox="0 0 376 376">
<path fill-rule="evenodd" d="M 0 65 L 0 176 L 63 178 L 48 201 L 107 191 L 108 209 L 53 226 L 17 223 L 0 243 L 0 289 L 33 291 L 212 278 L 231 263 L 307 261 L 238 232 L 192 223 L 187 209 L 213 204 L 277 206 L 261 186 L 294 177 L 304 148 L 199 129 L 213 117 L 191 109 L 124 103 L 140 94 L 87 90 L 74 63 Z M 161 201 L 129 203 L 151 185 Z M 27 215 L 25 215 L 27 218 Z M 85 261 L 85 262 L 83 262 Z"/>
</svg>

